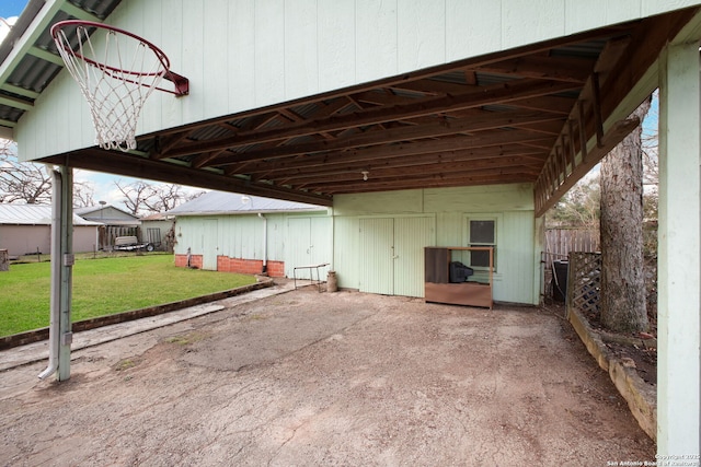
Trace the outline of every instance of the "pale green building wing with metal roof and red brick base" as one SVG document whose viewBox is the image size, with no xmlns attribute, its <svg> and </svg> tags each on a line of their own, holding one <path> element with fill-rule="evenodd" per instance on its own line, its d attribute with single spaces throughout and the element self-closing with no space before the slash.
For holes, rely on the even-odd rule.
<svg viewBox="0 0 701 467">
<path fill-rule="evenodd" d="M 175 215 L 176 266 L 291 277 L 296 266 L 332 260 L 332 218 L 324 207 L 209 191 L 168 214 Z"/>
</svg>

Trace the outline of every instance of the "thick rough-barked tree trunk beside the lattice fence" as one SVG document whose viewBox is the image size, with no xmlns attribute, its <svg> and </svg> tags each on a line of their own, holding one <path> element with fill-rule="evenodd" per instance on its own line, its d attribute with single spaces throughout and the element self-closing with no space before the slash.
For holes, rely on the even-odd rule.
<svg viewBox="0 0 701 467">
<path fill-rule="evenodd" d="M 650 98 L 633 113 L 641 121 Z M 601 162 L 601 324 L 648 329 L 643 275 L 643 163 L 639 126 Z"/>
</svg>

